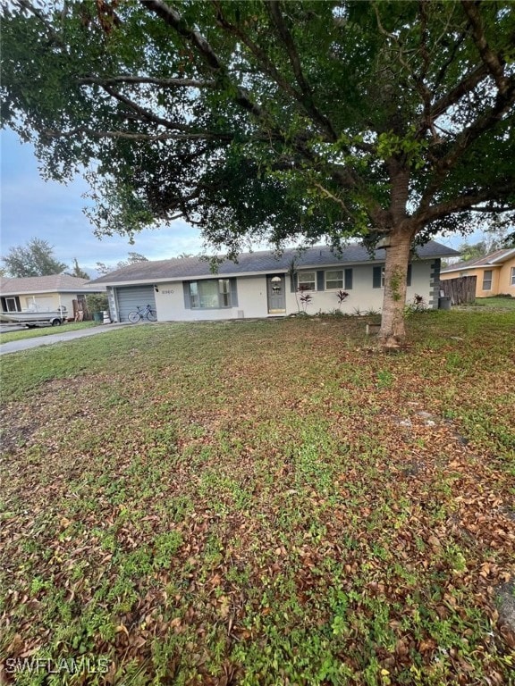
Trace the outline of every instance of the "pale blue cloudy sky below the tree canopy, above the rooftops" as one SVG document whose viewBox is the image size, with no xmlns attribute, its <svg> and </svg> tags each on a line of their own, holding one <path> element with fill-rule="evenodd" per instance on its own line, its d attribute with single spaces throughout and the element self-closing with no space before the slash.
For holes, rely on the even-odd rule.
<svg viewBox="0 0 515 686">
<path fill-rule="evenodd" d="M 21 143 L 10 130 L 0 132 L 0 151 L 0 256 L 7 255 L 11 247 L 26 245 L 30 238 L 42 238 L 54 247 L 56 259 L 72 269 L 77 258 L 80 268 L 95 278 L 97 262 L 114 266 L 127 259 L 129 252 L 165 260 L 204 251 L 199 230 L 181 220 L 141 231 L 133 245 L 122 236 L 99 239 L 82 212 L 87 204 L 82 196 L 88 189 L 84 180 L 78 177 L 66 186 L 43 180 L 33 147 Z M 455 234 L 436 239 L 456 248 L 465 238 Z M 478 234 L 467 238 L 469 243 L 480 239 Z"/>
</svg>

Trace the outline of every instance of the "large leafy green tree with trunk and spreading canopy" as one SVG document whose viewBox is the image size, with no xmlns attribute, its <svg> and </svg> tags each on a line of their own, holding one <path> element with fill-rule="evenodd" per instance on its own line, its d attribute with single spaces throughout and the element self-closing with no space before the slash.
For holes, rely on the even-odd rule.
<svg viewBox="0 0 515 686">
<path fill-rule="evenodd" d="M 98 232 L 383 238 L 386 346 L 414 241 L 513 217 L 511 2 L 13 0 L 2 34 L 3 123 L 94 164 Z"/>
</svg>

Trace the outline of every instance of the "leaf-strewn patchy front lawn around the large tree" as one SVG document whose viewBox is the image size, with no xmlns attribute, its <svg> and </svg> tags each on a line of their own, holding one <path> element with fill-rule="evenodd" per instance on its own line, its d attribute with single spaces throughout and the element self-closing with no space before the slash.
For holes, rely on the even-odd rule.
<svg viewBox="0 0 515 686">
<path fill-rule="evenodd" d="M 494 590 L 515 573 L 514 326 L 413 315 L 398 356 L 330 317 L 5 356 L 4 672 L 511 683 Z"/>
</svg>

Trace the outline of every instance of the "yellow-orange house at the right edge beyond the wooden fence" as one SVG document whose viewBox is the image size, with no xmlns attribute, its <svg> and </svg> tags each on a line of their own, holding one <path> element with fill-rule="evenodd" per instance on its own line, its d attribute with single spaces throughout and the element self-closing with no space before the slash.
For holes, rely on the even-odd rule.
<svg viewBox="0 0 515 686">
<path fill-rule="evenodd" d="M 510 295 L 515 297 L 515 247 L 495 250 L 476 260 L 444 267 L 441 280 L 476 277 L 476 297 Z"/>
</svg>

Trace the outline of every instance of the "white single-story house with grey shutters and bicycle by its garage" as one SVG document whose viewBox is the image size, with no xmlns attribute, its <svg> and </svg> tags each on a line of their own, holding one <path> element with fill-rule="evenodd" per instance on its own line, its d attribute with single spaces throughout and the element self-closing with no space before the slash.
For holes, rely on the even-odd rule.
<svg viewBox="0 0 515 686">
<path fill-rule="evenodd" d="M 419 247 L 409 264 L 408 301 L 422 296 L 438 306 L 440 259 L 458 255 L 452 248 L 430 241 Z M 291 274 L 291 263 L 295 271 Z M 349 297 L 342 313 L 355 314 L 383 305 L 384 249 L 371 258 L 365 247 L 350 245 L 335 254 L 328 247 L 295 248 L 281 255 L 273 251 L 245 253 L 237 263 L 224 260 L 217 272 L 198 257 L 139 262 L 92 281 L 107 287 L 111 318 L 126 322 L 131 310 L 151 305 L 157 319 L 194 321 L 242 319 L 294 314 L 300 311 L 300 289 L 309 293 L 307 312 L 339 309 L 338 291 Z"/>
</svg>

